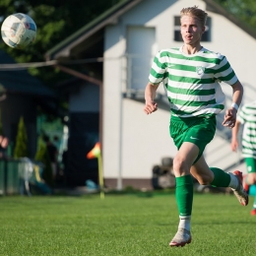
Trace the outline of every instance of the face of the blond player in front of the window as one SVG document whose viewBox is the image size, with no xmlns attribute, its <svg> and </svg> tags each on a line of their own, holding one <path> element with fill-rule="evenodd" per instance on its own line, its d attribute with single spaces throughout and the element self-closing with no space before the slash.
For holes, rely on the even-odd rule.
<svg viewBox="0 0 256 256">
<path fill-rule="evenodd" d="M 195 17 L 183 16 L 180 20 L 180 31 L 184 43 L 191 46 L 200 43 L 205 27 L 202 27 Z"/>
</svg>

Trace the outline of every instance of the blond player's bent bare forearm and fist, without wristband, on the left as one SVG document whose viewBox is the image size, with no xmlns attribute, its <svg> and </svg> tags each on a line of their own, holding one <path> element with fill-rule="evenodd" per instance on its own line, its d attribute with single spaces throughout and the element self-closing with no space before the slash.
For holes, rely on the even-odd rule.
<svg viewBox="0 0 256 256">
<path fill-rule="evenodd" d="M 145 106 L 144 112 L 146 114 L 151 114 L 158 110 L 158 103 L 155 102 L 156 92 L 159 85 L 153 85 L 149 83 L 145 89 Z"/>
</svg>

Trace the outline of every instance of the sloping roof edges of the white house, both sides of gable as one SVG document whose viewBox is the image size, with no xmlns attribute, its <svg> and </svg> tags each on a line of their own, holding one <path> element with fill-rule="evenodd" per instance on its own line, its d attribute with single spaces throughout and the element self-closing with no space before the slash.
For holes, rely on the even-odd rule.
<svg viewBox="0 0 256 256">
<path fill-rule="evenodd" d="M 85 51 L 87 47 L 92 47 L 92 45 L 94 45 L 95 42 L 100 40 L 100 37 L 103 36 L 102 30 L 107 25 L 116 24 L 118 18 L 122 14 L 129 11 L 132 7 L 142 1 L 145 0 L 123 0 L 119 2 L 115 6 L 104 12 L 102 15 L 97 17 L 96 20 L 87 24 L 79 31 L 74 32 L 65 40 L 61 41 L 59 44 L 55 45 L 53 48 L 47 51 L 45 53 L 45 59 L 51 60 L 69 58 L 71 55 L 76 56 L 79 52 L 83 50 Z M 248 25 L 241 22 L 228 11 L 224 10 L 224 8 L 220 4 L 216 3 L 214 0 L 203 1 L 206 3 L 206 9 L 208 11 L 223 15 L 226 19 L 241 28 L 244 32 L 248 32 L 251 36 L 256 38 L 255 30 L 251 29 Z"/>
</svg>

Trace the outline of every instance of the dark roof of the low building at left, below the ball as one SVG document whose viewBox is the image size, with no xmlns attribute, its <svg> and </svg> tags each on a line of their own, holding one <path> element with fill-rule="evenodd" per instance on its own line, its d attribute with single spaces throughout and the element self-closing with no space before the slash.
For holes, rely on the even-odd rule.
<svg viewBox="0 0 256 256">
<path fill-rule="evenodd" d="M 0 50 L 0 63 L 15 64 L 16 62 L 6 52 Z M 27 70 L 0 69 L 0 93 L 55 97 L 51 90 L 30 75 Z"/>
</svg>

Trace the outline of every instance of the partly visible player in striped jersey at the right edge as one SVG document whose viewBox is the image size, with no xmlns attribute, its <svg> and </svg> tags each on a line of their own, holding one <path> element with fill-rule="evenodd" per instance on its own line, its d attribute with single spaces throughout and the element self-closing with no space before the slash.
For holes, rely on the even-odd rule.
<svg viewBox="0 0 256 256">
<path fill-rule="evenodd" d="M 246 163 L 247 174 L 244 175 L 244 188 L 256 191 L 256 100 L 244 104 L 238 112 L 235 126 L 232 129 L 231 150 L 236 152 L 239 147 L 238 132 L 243 124 L 242 157 Z M 256 216 L 256 194 L 254 195 L 251 215 Z"/>
</svg>

